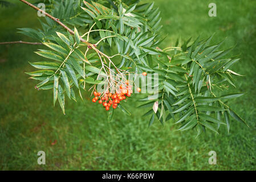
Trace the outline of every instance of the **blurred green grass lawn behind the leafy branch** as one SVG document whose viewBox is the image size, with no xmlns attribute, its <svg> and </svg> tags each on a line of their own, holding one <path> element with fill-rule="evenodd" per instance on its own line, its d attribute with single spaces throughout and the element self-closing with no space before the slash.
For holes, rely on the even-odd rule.
<svg viewBox="0 0 256 182">
<path fill-rule="evenodd" d="M 36 11 L 11 2 L 15 6 L 0 7 L 0 42 L 34 41 L 18 34 L 17 28 L 40 27 Z M 208 132 L 197 139 L 196 130 L 175 131 L 170 121 L 164 126 L 155 121 L 148 128 L 149 118 L 141 118 L 143 110 L 136 109 L 135 99 L 125 104 L 131 117 L 116 110 L 108 123 L 105 110 L 92 104 L 88 94 L 86 105 L 68 100 L 63 115 L 52 105 L 52 92 L 34 89 L 35 81 L 24 73 L 34 70 L 28 61 L 40 60 L 33 53 L 39 46 L 0 45 L 1 170 L 256 169 L 256 1 L 155 2 L 161 10 L 162 36 L 167 36 L 162 47 L 173 46 L 179 37 L 206 38 L 214 32 L 214 42 L 227 37 L 224 48 L 237 44 L 230 55 L 241 54 L 241 61 L 232 69 L 246 75 L 237 77 L 237 92 L 246 94 L 229 105 L 250 128 L 231 121 L 230 134 L 221 128 L 220 135 Z M 208 16 L 210 2 L 217 5 L 217 17 Z M 37 163 L 40 150 L 46 152 L 46 165 Z M 212 150 L 217 165 L 208 163 Z"/>
</svg>

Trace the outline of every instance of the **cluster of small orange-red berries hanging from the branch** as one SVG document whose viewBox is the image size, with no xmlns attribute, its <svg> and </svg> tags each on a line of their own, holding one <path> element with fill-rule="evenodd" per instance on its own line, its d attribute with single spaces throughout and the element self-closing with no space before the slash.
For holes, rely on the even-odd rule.
<svg viewBox="0 0 256 182">
<path fill-rule="evenodd" d="M 140 92 L 140 88 L 137 88 L 137 90 Z M 111 106 L 113 109 L 116 109 L 120 101 L 125 100 L 127 97 L 131 97 L 131 94 L 132 86 L 127 82 L 126 85 L 120 85 L 119 89 L 115 93 L 110 93 L 107 91 L 101 96 L 100 92 L 95 91 L 95 97 L 92 98 L 92 102 L 97 102 L 97 100 L 99 100 L 99 104 L 102 104 L 105 107 L 105 110 L 109 110 Z"/>
</svg>

